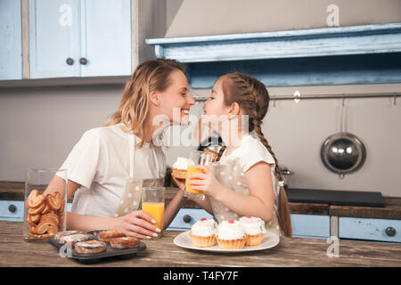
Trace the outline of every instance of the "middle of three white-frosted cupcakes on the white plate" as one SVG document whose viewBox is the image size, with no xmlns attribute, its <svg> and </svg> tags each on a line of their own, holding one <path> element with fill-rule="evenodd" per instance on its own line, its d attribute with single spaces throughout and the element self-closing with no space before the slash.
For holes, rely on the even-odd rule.
<svg viewBox="0 0 401 285">
<path fill-rule="evenodd" d="M 221 249 L 242 249 L 247 241 L 247 235 L 238 221 L 221 222 L 217 232 L 217 243 Z"/>
</svg>

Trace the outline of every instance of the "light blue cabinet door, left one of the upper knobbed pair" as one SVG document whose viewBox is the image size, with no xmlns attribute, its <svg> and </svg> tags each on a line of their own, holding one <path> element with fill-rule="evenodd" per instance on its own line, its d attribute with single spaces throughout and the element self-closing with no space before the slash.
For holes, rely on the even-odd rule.
<svg viewBox="0 0 401 285">
<path fill-rule="evenodd" d="M 80 76 L 78 7 L 78 0 L 29 1 L 31 78 Z"/>
</svg>

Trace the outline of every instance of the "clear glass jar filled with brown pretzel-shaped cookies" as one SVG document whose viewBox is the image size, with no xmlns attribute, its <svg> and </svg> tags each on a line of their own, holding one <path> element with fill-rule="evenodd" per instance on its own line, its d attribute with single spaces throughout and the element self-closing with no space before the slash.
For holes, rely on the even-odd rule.
<svg viewBox="0 0 401 285">
<path fill-rule="evenodd" d="M 61 179 L 48 189 L 54 175 Z M 65 231 L 67 169 L 29 169 L 25 175 L 24 239 L 47 240 Z"/>
</svg>

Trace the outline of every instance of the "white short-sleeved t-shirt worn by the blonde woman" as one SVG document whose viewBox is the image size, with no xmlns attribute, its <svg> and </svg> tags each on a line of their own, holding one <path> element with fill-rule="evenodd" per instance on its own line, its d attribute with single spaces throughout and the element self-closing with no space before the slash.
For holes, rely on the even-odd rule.
<svg viewBox="0 0 401 285">
<path fill-rule="evenodd" d="M 129 177 L 128 136 L 119 125 L 88 130 L 61 168 L 81 184 L 71 212 L 87 216 L 113 216 L 123 198 Z M 135 142 L 140 142 L 135 137 Z M 160 149 L 135 148 L 135 178 L 160 178 L 166 173 L 166 156 Z M 159 173 L 157 173 L 159 172 Z"/>
</svg>

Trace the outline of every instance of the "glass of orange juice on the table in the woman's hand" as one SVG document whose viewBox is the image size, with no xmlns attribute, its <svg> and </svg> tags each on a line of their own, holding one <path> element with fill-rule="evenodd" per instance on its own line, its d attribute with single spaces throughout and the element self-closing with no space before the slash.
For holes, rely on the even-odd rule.
<svg viewBox="0 0 401 285">
<path fill-rule="evenodd" d="M 143 187 L 142 191 L 142 209 L 146 214 L 150 215 L 161 232 L 158 233 L 156 239 L 160 239 L 163 232 L 163 216 L 164 216 L 164 187 Z"/>
</svg>

